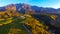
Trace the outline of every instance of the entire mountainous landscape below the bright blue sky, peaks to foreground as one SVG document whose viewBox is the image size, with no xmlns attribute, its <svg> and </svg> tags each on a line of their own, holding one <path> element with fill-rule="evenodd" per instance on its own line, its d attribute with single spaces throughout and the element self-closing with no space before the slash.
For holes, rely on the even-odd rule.
<svg viewBox="0 0 60 34">
<path fill-rule="evenodd" d="M 59 11 L 28 4 L 0 7 L 0 34 L 60 34 Z"/>
</svg>

